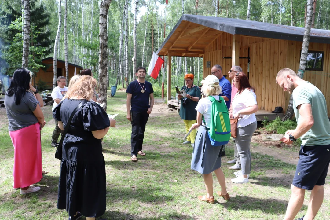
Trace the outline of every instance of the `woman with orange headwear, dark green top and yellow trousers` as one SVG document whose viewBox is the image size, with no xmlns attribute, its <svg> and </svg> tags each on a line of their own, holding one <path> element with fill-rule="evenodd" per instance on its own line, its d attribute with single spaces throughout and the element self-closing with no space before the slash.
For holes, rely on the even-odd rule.
<svg viewBox="0 0 330 220">
<path fill-rule="evenodd" d="M 196 106 L 201 98 L 201 91 L 198 86 L 194 85 L 194 75 L 186 74 L 184 76 L 184 81 L 186 83 L 182 89 L 187 93 L 187 97 L 183 97 L 182 94 L 178 95 L 178 99 L 181 100 L 180 104 L 180 117 L 184 122 L 186 132 L 189 132 L 189 128 L 193 123 L 196 123 Z M 182 90 L 181 89 L 181 90 Z M 196 131 L 193 130 L 187 137 L 187 141 L 183 143 L 191 143 L 194 145 L 195 143 Z"/>
</svg>

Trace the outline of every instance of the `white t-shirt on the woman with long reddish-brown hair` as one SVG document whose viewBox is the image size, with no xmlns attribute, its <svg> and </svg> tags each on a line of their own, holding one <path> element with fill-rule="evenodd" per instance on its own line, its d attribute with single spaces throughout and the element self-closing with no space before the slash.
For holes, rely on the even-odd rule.
<svg viewBox="0 0 330 220">
<path fill-rule="evenodd" d="M 240 94 L 236 93 L 232 101 L 233 114 L 236 114 L 240 110 L 246 109 L 250 106 L 257 104 L 256 98 L 257 96 L 252 90 L 249 91 L 248 89 L 244 89 L 243 92 L 241 92 Z M 248 126 L 249 124 L 252 124 L 257 120 L 254 113 L 242 114 L 241 116 L 243 118 L 238 119 L 237 122 L 238 128 Z"/>
</svg>

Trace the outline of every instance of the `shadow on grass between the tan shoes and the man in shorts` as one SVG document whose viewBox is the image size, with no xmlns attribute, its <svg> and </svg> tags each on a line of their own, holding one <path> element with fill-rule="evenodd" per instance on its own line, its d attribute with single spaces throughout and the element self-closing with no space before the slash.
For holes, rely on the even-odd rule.
<svg viewBox="0 0 330 220">
<path fill-rule="evenodd" d="M 255 211 L 258 209 L 263 213 L 285 214 L 288 202 L 289 201 L 278 199 L 259 199 L 255 197 L 236 195 L 236 197 L 231 197 L 230 201 L 221 204 L 229 211 L 239 211 L 241 209 Z M 305 209 L 307 206 L 303 205 L 302 208 Z"/>
</svg>

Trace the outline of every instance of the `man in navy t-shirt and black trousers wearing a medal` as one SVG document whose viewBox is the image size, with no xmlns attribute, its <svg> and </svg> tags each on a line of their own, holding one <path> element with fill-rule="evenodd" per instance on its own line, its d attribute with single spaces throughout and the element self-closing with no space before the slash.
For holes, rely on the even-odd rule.
<svg viewBox="0 0 330 220">
<path fill-rule="evenodd" d="M 127 93 L 127 119 L 132 124 L 131 134 L 131 160 L 136 162 L 136 156 L 142 152 L 144 132 L 146 124 L 153 107 L 153 88 L 150 82 L 145 81 L 146 69 L 138 67 L 135 73 L 137 79 L 132 81 L 126 89 Z M 149 101 L 150 98 L 150 101 Z"/>
</svg>

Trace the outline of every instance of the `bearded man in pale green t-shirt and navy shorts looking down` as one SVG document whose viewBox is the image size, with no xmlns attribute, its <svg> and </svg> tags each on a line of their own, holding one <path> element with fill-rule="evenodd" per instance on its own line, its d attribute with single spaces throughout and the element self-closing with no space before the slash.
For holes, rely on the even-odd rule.
<svg viewBox="0 0 330 220">
<path fill-rule="evenodd" d="M 293 220 L 304 203 L 305 190 L 312 190 L 307 213 L 297 220 L 313 220 L 323 203 L 325 178 L 330 162 L 330 122 L 322 92 L 312 83 L 300 79 L 291 69 L 282 69 L 276 82 L 292 94 L 297 120 L 294 130 L 281 139 L 291 144 L 300 138 L 299 161 L 291 185 L 291 198 L 284 220 Z"/>
</svg>

